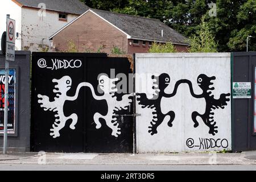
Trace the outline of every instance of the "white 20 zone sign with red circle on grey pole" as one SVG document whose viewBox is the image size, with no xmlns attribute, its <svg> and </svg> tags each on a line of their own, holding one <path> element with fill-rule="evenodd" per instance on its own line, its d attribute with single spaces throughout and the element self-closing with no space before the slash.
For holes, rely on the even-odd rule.
<svg viewBox="0 0 256 182">
<path fill-rule="evenodd" d="M 6 60 L 15 60 L 15 20 L 7 18 Z"/>
</svg>

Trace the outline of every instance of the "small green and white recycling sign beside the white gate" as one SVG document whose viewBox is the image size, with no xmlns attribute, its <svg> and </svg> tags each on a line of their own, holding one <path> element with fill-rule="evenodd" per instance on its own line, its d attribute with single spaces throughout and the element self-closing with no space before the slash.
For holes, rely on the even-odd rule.
<svg viewBox="0 0 256 182">
<path fill-rule="evenodd" d="M 233 82 L 233 98 L 251 98 L 251 82 Z"/>
</svg>

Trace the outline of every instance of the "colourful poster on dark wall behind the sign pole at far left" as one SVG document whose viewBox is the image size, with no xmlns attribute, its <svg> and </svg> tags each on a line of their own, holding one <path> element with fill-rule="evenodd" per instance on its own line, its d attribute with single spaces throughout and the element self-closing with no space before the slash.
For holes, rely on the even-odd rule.
<svg viewBox="0 0 256 182">
<path fill-rule="evenodd" d="M 0 69 L 0 134 L 3 134 L 5 116 L 5 69 Z M 15 69 L 9 69 L 8 126 L 9 134 L 15 134 Z"/>
</svg>

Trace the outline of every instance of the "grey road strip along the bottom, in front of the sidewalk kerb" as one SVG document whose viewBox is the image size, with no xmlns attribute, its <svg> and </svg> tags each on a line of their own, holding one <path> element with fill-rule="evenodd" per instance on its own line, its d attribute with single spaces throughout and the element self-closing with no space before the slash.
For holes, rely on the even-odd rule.
<svg viewBox="0 0 256 182">
<path fill-rule="evenodd" d="M 256 165 L 104 165 L 104 164 L 0 164 L 0 171 L 222 171 L 253 170 Z"/>
</svg>

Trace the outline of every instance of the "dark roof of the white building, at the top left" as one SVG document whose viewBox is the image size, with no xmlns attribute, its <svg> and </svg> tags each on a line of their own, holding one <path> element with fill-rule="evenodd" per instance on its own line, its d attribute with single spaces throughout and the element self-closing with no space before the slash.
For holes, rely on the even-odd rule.
<svg viewBox="0 0 256 182">
<path fill-rule="evenodd" d="M 40 3 L 46 4 L 47 10 L 59 11 L 69 14 L 81 15 L 89 10 L 89 7 L 79 0 L 13 0 L 22 6 L 38 8 Z"/>
</svg>

